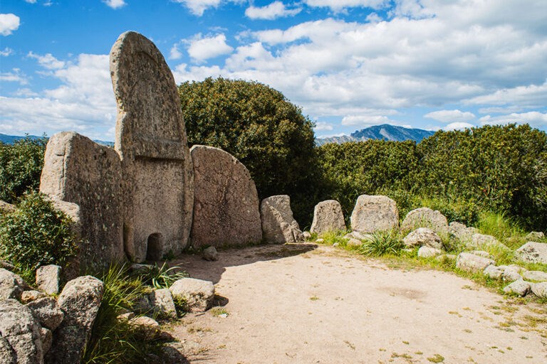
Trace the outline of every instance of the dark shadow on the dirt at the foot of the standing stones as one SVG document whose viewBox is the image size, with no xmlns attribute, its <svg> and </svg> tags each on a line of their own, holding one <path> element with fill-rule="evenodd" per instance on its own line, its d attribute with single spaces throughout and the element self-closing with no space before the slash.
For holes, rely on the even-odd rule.
<svg viewBox="0 0 547 364">
<path fill-rule="evenodd" d="M 226 267 L 235 267 L 255 262 L 292 257 L 294 255 L 310 252 L 317 247 L 316 244 L 309 243 L 234 247 L 225 250 L 219 249 L 219 259 L 216 262 L 204 260 L 200 253 L 194 253 L 182 254 L 169 262 L 169 264 L 170 266 L 178 265 L 179 267 L 182 267 L 182 269 L 187 271 L 192 278 L 204 279 L 217 284 L 221 279 L 222 274 L 226 271 Z"/>
</svg>

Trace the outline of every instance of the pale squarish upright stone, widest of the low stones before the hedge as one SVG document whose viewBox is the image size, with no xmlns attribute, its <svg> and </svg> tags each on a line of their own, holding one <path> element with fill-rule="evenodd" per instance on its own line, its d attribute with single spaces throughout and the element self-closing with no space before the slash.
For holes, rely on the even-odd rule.
<svg viewBox="0 0 547 364">
<path fill-rule="evenodd" d="M 394 200 L 386 196 L 361 195 L 351 213 L 351 229 L 370 233 L 399 228 L 399 210 Z"/>
</svg>

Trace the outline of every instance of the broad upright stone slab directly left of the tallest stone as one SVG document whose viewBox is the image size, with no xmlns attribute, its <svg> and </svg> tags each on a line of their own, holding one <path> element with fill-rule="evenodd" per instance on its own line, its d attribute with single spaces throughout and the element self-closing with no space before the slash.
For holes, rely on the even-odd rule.
<svg viewBox="0 0 547 364">
<path fill-rule="evenodd" d="M 52 196 L 56 208 L 75 218 L 80 237 L 80 264 L 107 267 L 123 254 L 122 172 L 114 149 L 75 132 L 53 135 L 46 146 L 40 191 Z"/>
</svg>

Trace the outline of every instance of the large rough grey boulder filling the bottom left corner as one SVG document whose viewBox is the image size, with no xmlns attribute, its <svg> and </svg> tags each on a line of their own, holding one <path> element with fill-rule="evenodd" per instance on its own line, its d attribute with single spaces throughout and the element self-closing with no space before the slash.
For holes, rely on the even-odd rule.
<svg viewBox="0 0 547 364">
<path fill-rule="evenodd" d="M 0 353 L 4 363 L 43 363 L 40 324 L 15 299 L 0 301 Z"/>
</svg>

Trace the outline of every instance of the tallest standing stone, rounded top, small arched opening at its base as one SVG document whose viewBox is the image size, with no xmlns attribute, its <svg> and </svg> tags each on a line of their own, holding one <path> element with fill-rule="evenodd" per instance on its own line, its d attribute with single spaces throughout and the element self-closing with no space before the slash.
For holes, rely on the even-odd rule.
<svg viewBox="0 0 547 364">
<path fill-rule="evenodd" d="M 160 50 L 135 32 L 113 45 L 110 74 L 125 252 L 135 262 L 161 259 L 186 246 L 192 226 L 193 169 L 177 86 Z"/>
</svg>

